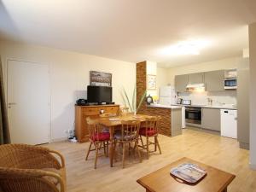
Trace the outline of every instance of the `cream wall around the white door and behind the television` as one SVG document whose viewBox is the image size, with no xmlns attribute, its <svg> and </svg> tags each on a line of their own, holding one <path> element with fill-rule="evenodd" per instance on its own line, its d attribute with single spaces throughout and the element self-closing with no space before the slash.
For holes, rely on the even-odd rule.
<svg viewBox="0 0 256 192">
<path fill-rule="evenodd" d="M 73 129 L 74 103 L 79 97 L 86 95 L 85 90 L 90 83 L 91 70 L 113 74 L 113 102 L 118 104 L 122 104 L 119 87 L 124 86 L 131 94 L 136 82 L 136 65 L 131 62 L 11 42 L 0 42 L 0 55 L 4 79 L 6 79 L 7 59 L 10 58 L 49 65 L 53 140 L 66 137 L 64 131 Z M 6 80 L 4 84 L 6 87 Z"/>
</svg>

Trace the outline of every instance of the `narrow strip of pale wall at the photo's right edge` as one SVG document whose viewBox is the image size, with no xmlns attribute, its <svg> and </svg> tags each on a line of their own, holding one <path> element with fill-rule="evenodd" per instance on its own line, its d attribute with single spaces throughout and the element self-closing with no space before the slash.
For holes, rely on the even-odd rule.
<svg viewBox="0 0 256 192">
<path fill-rule="evenodd" d="M 256 170 L 256 23 L 249 25 L 250 55 L 250 166 Z"/>
</svg>

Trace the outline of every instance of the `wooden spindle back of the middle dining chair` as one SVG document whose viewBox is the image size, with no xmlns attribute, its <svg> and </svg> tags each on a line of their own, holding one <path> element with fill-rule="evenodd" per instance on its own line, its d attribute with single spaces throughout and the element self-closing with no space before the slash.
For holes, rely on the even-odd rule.
<svg viewBox="0 0 256 192">
<path fill-rule="evenodd" d="M 139 120 L 122 120 L 121 140 L 136 140 L 140 128 Z"/>
</svg>

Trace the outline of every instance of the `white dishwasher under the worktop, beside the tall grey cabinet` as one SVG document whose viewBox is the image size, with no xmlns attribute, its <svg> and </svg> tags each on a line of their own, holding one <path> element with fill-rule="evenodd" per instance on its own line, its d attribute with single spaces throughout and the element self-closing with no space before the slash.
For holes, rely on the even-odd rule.
<svg viewBox="0 0 256 192">
<path fill-rule="evenodd" d="M 220 135 L 223 137 L 237 138 L 237 110 L 220 110 Z"/>
</svg>

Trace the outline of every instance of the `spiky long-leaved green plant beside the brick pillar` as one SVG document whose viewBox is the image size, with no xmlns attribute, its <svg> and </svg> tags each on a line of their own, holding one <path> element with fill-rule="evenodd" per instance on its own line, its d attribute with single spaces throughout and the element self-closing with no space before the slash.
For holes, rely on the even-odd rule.
<svg viewBox="0 0 256 192">
<path fill-rule="evenodd" d="M 143 93 L 143 96 L 140 99 L 140 102 L 137 105 L 137 103 L 136 103 L 136 92 L 137 92 L 137 89 L 136 89 L 136 86 L 134 86 L 131 101 L 130 101 L 130 98 L 129 98 L 125 88 L 122 87 L 121 90 L 120 90 L 120 94 L 121 94 L 123 102 L 124 102 L 123 104 L 125 105 L 125 107 L 129 107 L 131 112 L 134 112 L 134 113 L 137 113 L 139 108 L 141 108 L 141 106 L 142 106 L 142 104 L 145 100 L 146 94 L 147 94 L 147 91 L 145 90 L 144 93 Z"/>
</svg>

